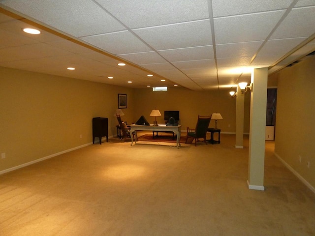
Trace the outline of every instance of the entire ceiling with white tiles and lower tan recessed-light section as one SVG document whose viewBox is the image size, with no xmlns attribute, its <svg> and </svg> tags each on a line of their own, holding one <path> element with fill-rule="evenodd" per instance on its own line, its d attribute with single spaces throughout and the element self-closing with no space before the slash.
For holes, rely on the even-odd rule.
<svg viewBox="0 0 315 236">
<path fill-rule="evenodd" d="M 252 68 L 272 74 L 315 51 L 315 0 L 0 0 L 0 7 L 0 66 L 130 88 L 231 88 L 249 82 Z M 28 27 L 41 34 L 22 31 Z"/>
</svg>

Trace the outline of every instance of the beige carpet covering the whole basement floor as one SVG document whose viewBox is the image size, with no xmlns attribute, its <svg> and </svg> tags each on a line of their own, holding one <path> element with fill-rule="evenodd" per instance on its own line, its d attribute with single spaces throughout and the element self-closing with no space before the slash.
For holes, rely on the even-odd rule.
<svg viewBox="0 0 315 236">
<path fill-rule="evenodd" d="M 315 235 L 315 194 L 273 142 L 256 191 L 234 135 L 179 149 L 109 141 L 0 176 L 0 236 Z"/>
</svg>

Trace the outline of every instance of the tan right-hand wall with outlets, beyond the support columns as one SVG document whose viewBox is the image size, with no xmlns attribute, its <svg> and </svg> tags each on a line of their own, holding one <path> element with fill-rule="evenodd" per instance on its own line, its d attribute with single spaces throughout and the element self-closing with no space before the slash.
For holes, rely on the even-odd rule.
<svg viewBox="0 0 315 236">
<path fill-rule="evenodd" d="M 278 78 L 275 152 L 315 187 L 315 57 L 273 75 Z M 300 163 L 298 157 L 302 156 Z M 311 162 L 310 169 L 307 161 Z"/>
</svg>

